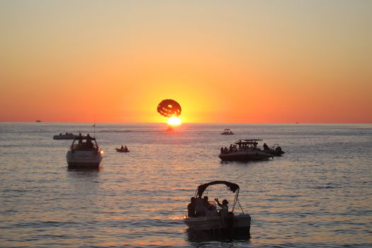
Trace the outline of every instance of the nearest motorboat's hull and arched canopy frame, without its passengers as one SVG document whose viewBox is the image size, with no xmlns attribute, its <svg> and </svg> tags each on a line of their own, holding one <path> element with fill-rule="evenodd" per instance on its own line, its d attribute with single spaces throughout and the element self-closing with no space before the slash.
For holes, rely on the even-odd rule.
<svg viewBox="0 0 372 248">
<path fill-rule="evenodd" d="M 222 214 L 218 213 L 217 208 L 213 208 L 215 206 L 214 201 L 208 201 L 209 208 L 205 209 L 205 215 L 202 216 L 185 216 L 184 222 L 188 226 L 189 230 L 191 231 L 215 231 L 215 230 L 229 230 L 229 231 L 237 231 L 237 232 L 244 232 L 249 235 L 250 227 L 251 227 L 251 216 L 248 213 L 235 214 L 235 206 L 239 203 L 238 196 L 239 196 L 239 186 L 237 184 L 230 183 L 228 181 L 211 181 L 208 184 L 201 184 L 196 189 L 195 193 L 195 208 L 200 208 L 200 203 L 203 204 L 203 193 L 206 188 L 216 184 L 225 184 L 227 189 L 235 193 L 235 200 L 232 205 L 232 210 L 228 212 L 227 216 L 223 217 Z M 240 206 L 240 209 L 242 207 Z"/>
</svg>

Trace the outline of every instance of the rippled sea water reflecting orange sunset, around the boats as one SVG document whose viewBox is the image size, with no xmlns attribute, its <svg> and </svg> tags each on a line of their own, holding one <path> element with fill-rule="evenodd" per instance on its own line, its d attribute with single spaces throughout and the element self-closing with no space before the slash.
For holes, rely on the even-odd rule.
<svg viewBox="0 0 372 248">
<path fill-rule="evenodd" d="M 0 247 L 371 247 L 372 125 L 100 124 L 99 171 L 67 169 L 71 140 L 91 124 L 0 123 Z M 235 135 L 220 135 L 231 128 Z M 221 162 L 239 138 L 278 143 L 264 162 Z M 130 153 L 115 152 L 128 145 Z M 240 186 L 251 237 L 188 232 L 199 184 Z M 210 198 L 233 194 L 223 186 Z M 239 213 L 239 208 L 236 209 Z"/>
</svg>

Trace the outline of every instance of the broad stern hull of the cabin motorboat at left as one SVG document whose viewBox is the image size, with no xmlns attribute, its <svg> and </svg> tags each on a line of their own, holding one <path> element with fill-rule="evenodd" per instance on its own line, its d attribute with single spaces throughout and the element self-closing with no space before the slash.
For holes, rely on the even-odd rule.
<svg viewBox="0 0 372 248">
<path fill-rule="evenodd" d="M 97 169 L 102 158 L 101 152 L 96 150 L 69 150 L 66 154 L 69 169 Z"/>
</svg>

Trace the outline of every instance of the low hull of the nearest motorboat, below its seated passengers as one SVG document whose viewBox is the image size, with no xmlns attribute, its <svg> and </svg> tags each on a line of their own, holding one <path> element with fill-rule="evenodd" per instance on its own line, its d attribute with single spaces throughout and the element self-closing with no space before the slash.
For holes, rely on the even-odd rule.
<svg viewBox="0 0 372 248">
<path fill-rule="evenodd" d="M 206 216 L 185 218 L 185 224 L 190 230 L 237 230 L 249 234 L 251 227 L 251 216 L 249 214 L 234 215 L 222 221 L 220 216 Z"/>
</svg>

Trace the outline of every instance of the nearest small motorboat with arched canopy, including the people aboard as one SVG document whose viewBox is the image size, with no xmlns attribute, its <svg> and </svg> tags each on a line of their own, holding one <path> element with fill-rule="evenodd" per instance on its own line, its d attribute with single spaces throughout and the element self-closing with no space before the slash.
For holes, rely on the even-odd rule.
<svg viewBox="0 0 372 248">
<path fill-rule="evenodd" d="M 215 198 L 215 201 L 208 201 L 208 196 L 203 196 L 205 189 L 212 185 L 224 184 L 227 186 L 229 191 L 235 193 L 234 203 L 232 204 L 232 210 L 228 210 L 228 201 L 225 199 L 222 204 Z M 249 235 L 251 228 L 251 216 L 247 213 L 235 215 L 234 210 L 238 201 L 239 186 L 237 184 L 230 183 L 228 181 L 211 181 L 208 184 L 201 184 L 196 188 L 195 197 L 191 198 L 191 203 L 188 204 L 188 216 L 184 217 L 184 222 L 188 226 L 189 230 L 227 230 L 244 232 Z M 218 204 L 220 210 L 215 205 Z M 242 206 L 240 206 L 242 209 Z"/>
</svg>

